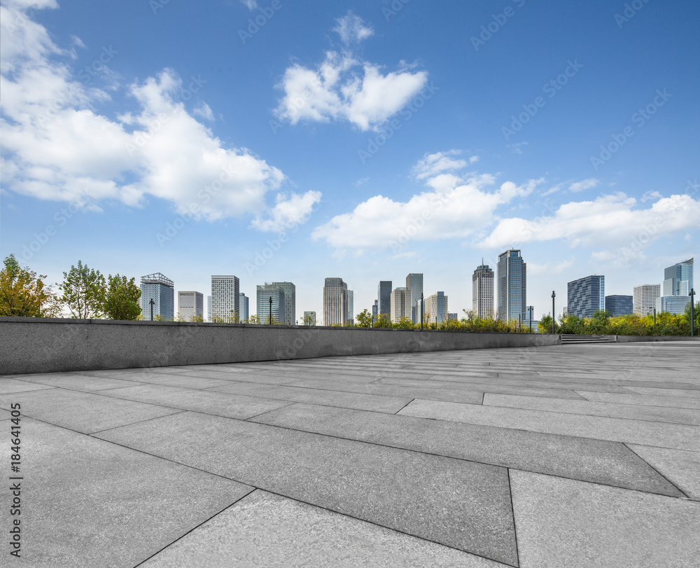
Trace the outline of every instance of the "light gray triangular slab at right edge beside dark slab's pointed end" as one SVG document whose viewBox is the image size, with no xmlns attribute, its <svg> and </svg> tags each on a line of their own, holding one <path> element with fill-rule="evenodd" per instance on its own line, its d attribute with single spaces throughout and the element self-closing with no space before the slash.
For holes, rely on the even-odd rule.
<svg viewBox="0 0 700 568">
<path fill-rule="evenodd" d="M 700 453 L 628 444 L 638 456 L 671 480 L 690 499 L 700 501 Z"/>
</svg>

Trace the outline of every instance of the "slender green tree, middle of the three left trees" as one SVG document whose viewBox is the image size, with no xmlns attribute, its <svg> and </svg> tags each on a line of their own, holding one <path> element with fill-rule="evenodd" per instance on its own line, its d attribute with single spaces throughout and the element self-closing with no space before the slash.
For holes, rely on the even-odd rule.
<svg viewBox="0 0 700 568">
<path fill-rule="evenodd" d="M 58 288 L 62 291 L 61 301 L 74 318 L 90 319 L 102 317 L 106 286 L 99 270 L 90 270 L 82 261 L 63 273 L 64 281 Z"/>
</svg>

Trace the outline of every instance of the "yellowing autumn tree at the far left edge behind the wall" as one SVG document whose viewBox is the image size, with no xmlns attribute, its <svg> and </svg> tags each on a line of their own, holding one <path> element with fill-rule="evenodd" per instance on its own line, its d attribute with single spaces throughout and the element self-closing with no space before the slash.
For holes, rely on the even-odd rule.
<svg viewBox="0 0 700 568">
<path fill-rule="evenodd" d="M 59 306 L 45 276 L 36 275 L 29 267 L 21 268 L 14 254 L 10 254 L 0 270 L 0 316 L 55 317 Z"/>
</svg>

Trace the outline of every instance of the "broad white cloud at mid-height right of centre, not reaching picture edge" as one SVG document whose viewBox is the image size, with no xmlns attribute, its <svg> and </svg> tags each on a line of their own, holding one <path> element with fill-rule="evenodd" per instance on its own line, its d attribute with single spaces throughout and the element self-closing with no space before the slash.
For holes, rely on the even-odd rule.
<svg viewBox="0 0 700 568">
<path fill-rule="evenodd" d="M 496 183 L 489 174 L 462 179 L 440 173 L 428 179 L 429 191 L 406 202 L 375 195 L 317 227 L 312 236 L 339 250 L 400 249 L 409 240 L 466 237 L 491 222 L 499 205 L 526 197 L 540 181 L 523 186 L 506 181 L 488 191 Z"/>
</svg>

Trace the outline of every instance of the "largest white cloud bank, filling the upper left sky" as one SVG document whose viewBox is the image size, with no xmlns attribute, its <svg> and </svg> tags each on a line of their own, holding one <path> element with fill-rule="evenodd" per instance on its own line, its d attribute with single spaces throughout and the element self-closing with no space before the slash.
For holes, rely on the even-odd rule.
<svg viewBox="0 0 700 568">
<path fill-rule="evenodd" d="M 109 103 L 110 95 L 76 81 L 60 61 L 65 52 L 43 27 L 27 20 L 8 30 L 7 22 L 24 16 L 1 9 L 3 48 L 8 35 L 14 42 L 10 55 L 3 49 L 0 78 L 4 188 L 68 202 L 85 202 L 87 194 L 92 204 L 139 206 L 155 197 L 209 220 L 265 216 L 267 193 L 278 190 L 285 176 L 247 148 L 223 146 L 190 115 L 174 71 L 130 85 L 132 112 L 107 118 L 94 106 Z M 211 109 L 202 103 L 193 114 L 207 117 Z"/>
</svg>

